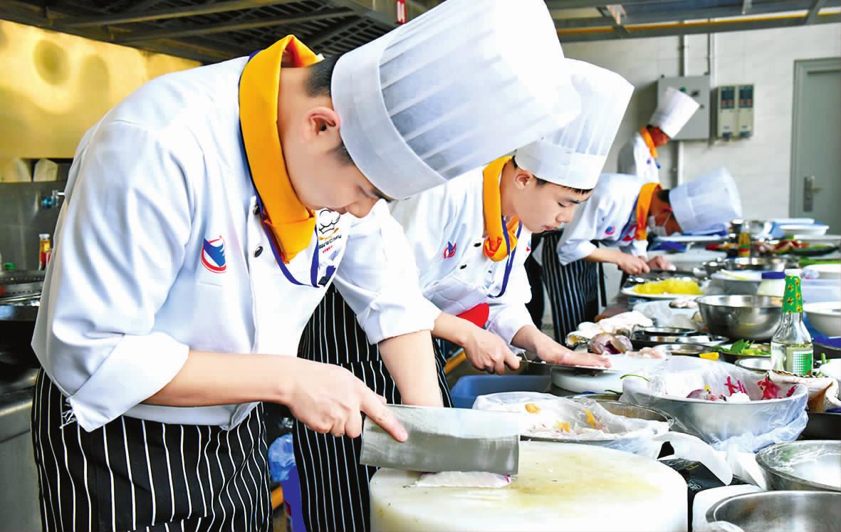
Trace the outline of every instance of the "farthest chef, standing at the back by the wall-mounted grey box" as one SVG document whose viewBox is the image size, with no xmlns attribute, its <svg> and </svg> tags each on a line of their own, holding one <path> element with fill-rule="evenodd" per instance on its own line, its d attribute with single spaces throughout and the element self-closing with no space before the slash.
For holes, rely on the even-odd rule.
<svg viewBox="0 0 841 532">
<path fill-rule="evenodd" d="M 699 103 L 685 92 L 673 87 L 666 88 L 664 97 L 651 115 L 648 125 L 633 134 L 632 139 L 622 146 L 616 161 L 617 171 L 660 182 L 657 149 L 680 133 L 680 129 L 683 129 L 699 107 Z"/>
</svg>

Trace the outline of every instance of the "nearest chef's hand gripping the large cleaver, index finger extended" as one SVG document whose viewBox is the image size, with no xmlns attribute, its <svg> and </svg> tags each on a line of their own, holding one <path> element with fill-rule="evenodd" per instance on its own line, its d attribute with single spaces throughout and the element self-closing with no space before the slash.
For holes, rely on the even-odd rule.
<svg viewBox="0 0 841 532">
<path fill-rule="evenodd" d="M 405 441 L 406 430 L 385 406 L 385 398 L 343 367 L 298 359 L 299 375 L 284 401 L 296 419 L 321 434 L 362 434 L 364 412 L 394 440 Z"/>
</svg>

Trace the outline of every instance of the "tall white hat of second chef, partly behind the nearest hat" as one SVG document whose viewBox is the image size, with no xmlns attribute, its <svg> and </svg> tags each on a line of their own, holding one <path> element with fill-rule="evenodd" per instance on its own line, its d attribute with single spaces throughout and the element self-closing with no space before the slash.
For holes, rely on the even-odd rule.
<svg viewBox="0 0 841 532">
<path fill-rule="evenodd" d="M 562 129 L 523 146 L 515 156 L 517 166 L 541 179 L 589 190 L 599 181 L 633 86 L 600 66 L 565 61 L 581 97 L 581 113 Z"/>
</svg>

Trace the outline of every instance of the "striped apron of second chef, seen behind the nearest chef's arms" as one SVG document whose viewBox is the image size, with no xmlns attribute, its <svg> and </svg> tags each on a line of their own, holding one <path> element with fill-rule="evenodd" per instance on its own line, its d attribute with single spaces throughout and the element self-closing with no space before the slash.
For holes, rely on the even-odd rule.
<svg viewBox="0 0 841 532">
<path fill-rule="evenodd" d="M 444 405 L 452 407 L 445 361 L 437 342 L 435 351 Z M 368 344 L 356 315 L 335 287 L 327 290 L 304 328 L 299 356 L 342 366 L 389 403 L 400 403 L 397 386 L 377 346 Z M 310 532 L 368 530 L 368 482 L 377 468 L 359 464 L 362 440 L 319 434 L 296 422 L 294 447 L 306 528 Z"/>
</svg>

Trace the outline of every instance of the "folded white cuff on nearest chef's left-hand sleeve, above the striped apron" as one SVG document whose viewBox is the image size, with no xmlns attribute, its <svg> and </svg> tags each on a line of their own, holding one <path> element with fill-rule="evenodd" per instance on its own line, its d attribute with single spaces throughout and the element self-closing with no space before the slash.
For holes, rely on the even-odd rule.
<svg viewBox="0 0 841 532">
<path fill-rule="evenodd" d="M 187 361 L 189 347 L 168 334 L 126 334 L 67 398 L 82 429 L 90 432 L 150 398 L 172 381 Z"/>
</svg>

